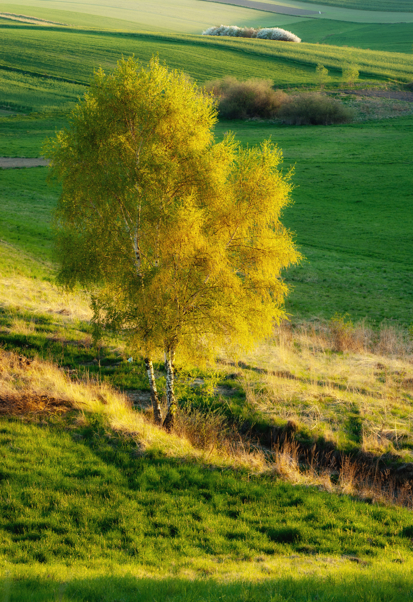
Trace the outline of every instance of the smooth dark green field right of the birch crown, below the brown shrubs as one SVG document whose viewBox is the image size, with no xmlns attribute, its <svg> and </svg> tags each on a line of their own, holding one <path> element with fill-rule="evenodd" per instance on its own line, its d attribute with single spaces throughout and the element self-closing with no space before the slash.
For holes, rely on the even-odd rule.
<svg viewBox="0 0 413 602">
<path fill-rule="evenodd" d="M 412 117 L 329 128 L 232 122 L 216 131 L 227 129 L 243 144 L 271 136 L 285 168 L 296 165 L 285 223 L 308 263 L 286 274 L 294 285 L 291 313 L 329 317 L 338 310 L 409 323 Z"/>
</svg>

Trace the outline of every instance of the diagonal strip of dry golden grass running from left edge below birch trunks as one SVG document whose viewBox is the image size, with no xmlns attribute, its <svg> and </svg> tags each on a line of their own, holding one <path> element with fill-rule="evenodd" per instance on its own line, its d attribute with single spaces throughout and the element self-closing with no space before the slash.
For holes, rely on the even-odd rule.
<svg viewBox="0 0 413 602">
<path fill-rule="evenodd" d="M 22 361 L 15 353 L 0 351 L 0 399 L 18 396 L 51 397 L 78 409 L 78 420 L 84 413 L 101 414 L 116 432 L 131 436 L 144 451 L 155 447 L 169 456 L 199 459 L 210 465 L 248 467 L 260 472 L 267 466 L 264 454 L 247 451 L 241 445 L 229 445 L 217 453 L 214 449 L 197 449 L 185 436 L 169 434 L 157 427 L 143 412 L 135 411 L 128 397 L 112 386 L 90 379 L 73 380 L 52 362 Z"/>
</svg>

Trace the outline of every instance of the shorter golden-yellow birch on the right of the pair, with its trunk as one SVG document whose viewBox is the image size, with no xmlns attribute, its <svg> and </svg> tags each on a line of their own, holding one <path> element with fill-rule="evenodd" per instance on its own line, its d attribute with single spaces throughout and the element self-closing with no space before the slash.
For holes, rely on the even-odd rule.
<svg viewBox="0 0 413 602">
<path fill-rule="evenodd" d="M 225 169 L 214 194 L 178 217 L 164 248 L 164 323 L 167 373 L 165 426 L 173 424 L 175 353 L 211 356 L 249 349 L 285 318 L 285 267 L 300 261 L 281 223 L 291 202 L 291 173 L 270 141 L 243 149 L 225 140 Z"/>
</svg>

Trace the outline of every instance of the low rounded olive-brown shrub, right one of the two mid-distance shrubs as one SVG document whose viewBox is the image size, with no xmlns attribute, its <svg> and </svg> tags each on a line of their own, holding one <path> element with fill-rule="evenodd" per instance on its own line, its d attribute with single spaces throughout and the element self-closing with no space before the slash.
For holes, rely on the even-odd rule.
<svg viewBox="0 0 413 602">
<path fill-rule="evenodd" d="M 278 116 L 291 125 L 349 123 L 354 111 L 343 103 L 317 93 L 300 94 L 283 102 Z"/>
</svg>

